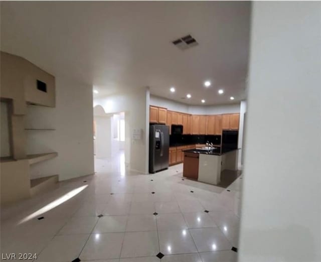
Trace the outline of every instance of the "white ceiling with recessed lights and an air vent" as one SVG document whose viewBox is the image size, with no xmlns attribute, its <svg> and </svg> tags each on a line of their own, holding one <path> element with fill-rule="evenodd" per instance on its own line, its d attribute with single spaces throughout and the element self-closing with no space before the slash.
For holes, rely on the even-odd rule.
<svg viewBox="0 0 321 262">
<path fill-rule="evenodd" d="M 250 2 L 1 2 L 1 50 L 94 85 L 98 96 L 149 86 L 218 104 L 245 98 L 249 23 Z M 199 45 L 171 43 L 187 34 Z"/>
</svg>

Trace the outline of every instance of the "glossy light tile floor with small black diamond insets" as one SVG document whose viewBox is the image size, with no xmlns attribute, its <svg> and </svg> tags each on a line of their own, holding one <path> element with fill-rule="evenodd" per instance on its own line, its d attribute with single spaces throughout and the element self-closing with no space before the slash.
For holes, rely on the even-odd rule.
<svg viewBox="0 0 321 262">
<path fill-rule="evenodd" d="M 95 160 L 95 169 L 2 209 L 1 252 L 37 253 L 48 262 L 237 260 L 242 176 L 224 189 L 184 179 L 183 165 L 142 175 L 115 158 Z"/>
</svg>

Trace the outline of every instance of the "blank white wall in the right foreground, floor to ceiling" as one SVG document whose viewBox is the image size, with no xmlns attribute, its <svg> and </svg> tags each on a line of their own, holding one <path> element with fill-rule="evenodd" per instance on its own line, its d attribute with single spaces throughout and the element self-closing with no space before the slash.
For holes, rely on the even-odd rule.
<svg viewBox="0 0 321 262">
<path fill-rule="evenodd" d="M 321 2 L 252 4 L 238 261 L 321 261 Z"/>
</svg>

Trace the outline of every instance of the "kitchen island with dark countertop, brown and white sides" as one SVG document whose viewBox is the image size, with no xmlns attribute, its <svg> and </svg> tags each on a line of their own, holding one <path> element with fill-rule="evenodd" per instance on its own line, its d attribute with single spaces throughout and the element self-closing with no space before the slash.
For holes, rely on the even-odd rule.
<svg viewBox="0 0 321 262">
<path fill-rule="evenodd" d="M 183 176 L 217 185 L 221 181 L 221 172 L 237 170 L 238 149 L 224 153 L 220 149 L 184 150 Z"/>
</svg>

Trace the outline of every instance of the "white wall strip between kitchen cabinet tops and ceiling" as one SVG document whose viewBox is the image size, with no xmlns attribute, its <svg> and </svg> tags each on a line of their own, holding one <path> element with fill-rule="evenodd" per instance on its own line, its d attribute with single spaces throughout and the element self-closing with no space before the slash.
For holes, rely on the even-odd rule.
<svg viewBox="0 0 321 262">
<path fill-rule="evenodd" d="M 172 111 L 189 114 L 225 114 L 240 112 L 240 103 L 222 105 L 187 105 L 154 95 L 150 95 L 150 105 L 162 106 Z"/>
</svg>

